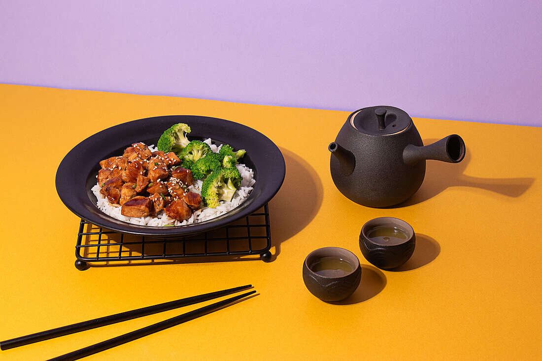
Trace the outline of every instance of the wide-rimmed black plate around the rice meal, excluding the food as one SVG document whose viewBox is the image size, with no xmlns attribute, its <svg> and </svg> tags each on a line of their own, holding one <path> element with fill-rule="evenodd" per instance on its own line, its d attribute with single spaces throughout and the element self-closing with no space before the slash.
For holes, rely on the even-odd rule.
<svg viewBox="0 0 542 361">
<path fill-rule="evenodd" d="M 241 160 L 254 170 L 256 180 L 249 197 L 227 214 L 209 221 L 178 227 L 149 227 L 126 223 L 99 210 L 91 188 L 96 184 L 100 160 L 121 156 L 126 147 L 138 141 L 156 145 L 164 130 L 176 123 L 186 123 L 191 127 L 190 140 L 211 138 L 215 144 L 228 143 L 236 150 L 247 151 Z M 252 128 L 218 118 L 166 115 L 119 124 L 83 140 L 62 159 L 56 171 L 56 191 L 69 210 L 100 227 L 120 233 L 173 237 L 219 228 L 248 216 L 273 198 L 279 191 L 285 174 L 286 165 L 279 148 Z"/>
</svg>

